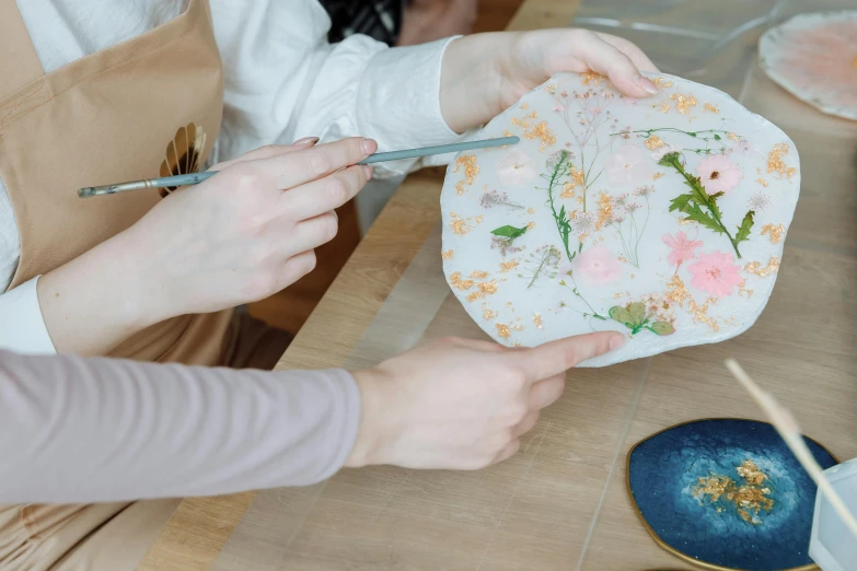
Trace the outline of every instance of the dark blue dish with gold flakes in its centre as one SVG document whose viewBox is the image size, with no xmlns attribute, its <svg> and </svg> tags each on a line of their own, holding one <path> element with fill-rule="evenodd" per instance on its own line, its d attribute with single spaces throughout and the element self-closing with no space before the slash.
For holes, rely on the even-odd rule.
<svg viewBox="0 0 857 571">
<path fill-rule="evenodd" d="M 822 468 L 837 464 L 806 441 Z M 635 445 L 627 464 L 637 512 L 673 555 L 709 569 L 814 569 L 807 549 L 815 485 L 771 424 L 678 424 Z"/>
</svg>

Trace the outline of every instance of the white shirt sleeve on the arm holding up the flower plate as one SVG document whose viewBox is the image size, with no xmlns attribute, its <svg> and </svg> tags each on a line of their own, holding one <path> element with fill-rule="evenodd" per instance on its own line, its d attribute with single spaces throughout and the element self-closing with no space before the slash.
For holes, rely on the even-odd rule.
<svg viewBox="0 0 857 571">
<path fill-rule="evenodd" d="M 449 42 L 389 48 L 368 36 L 327 43 L 331 21 L 314 0 L 211 0 L 224 72 L 218 160 L 303 137 L 368 137 L 380 151 L 463 138 L 440 110 Z M 449 155 L 444 158 L 449 160 Z M 435 162 L 374 166 L 395 176 Z"/>
</svg>

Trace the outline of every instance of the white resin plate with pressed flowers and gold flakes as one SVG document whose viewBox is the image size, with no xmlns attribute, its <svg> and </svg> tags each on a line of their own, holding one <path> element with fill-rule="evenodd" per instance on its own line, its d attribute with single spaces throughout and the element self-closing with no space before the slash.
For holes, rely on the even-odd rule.
<svg viewBox="0 0 857 571">
<path fill-rule="evenodd" d="M 603 366 L 746 330 L 774 288 L 800 191 L 798 153 L 727 94 L 670 75 L 647 100 L 559 74 L 459 154 L 441 195 L 443 271 L 495 340 L 600 330 Z"/>
</svg>

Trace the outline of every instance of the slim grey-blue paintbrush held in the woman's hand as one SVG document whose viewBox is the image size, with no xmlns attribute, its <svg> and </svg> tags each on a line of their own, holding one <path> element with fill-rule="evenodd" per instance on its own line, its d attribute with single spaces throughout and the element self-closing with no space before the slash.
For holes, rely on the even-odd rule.
<svg viewBox="0 0 857 571">
<path fill-rule="evenodd" d="M 357 164 L 382 163 L 385 161 L 398 161 L 401 159 L 416 159 L 418 156 L 429 156 L 432 154 L 458 153 L 461 151 L 472 151 L 474 149 L 490 149 L 493 147 L 506 147 L 517 144 L 521 139 L 518 137 L 501 137 L 499 139 L 484 139 L 482 141 L 466 141 L 452 144 L 439 144 L 436 147 L 422 147 L 419 149 L 408 149 L 405 151 L 391 151 L 387 153 L 370 154 Z M 143 190 L 146 188 L 175 188 L 179 186 L 198 185 L 215 176 L 218 171 L 208 171 L 205 173 L 193 173 L 176 176 L 165 176 L 161 178 L 149 178 L 147 180 L 134 180 L 130 183 L 119 183 L 105 186 L 90 186 L 78 190 L 80 198 L 90 198 L 100 195 L 115 195 L 129 190 Z"/>
</svg>

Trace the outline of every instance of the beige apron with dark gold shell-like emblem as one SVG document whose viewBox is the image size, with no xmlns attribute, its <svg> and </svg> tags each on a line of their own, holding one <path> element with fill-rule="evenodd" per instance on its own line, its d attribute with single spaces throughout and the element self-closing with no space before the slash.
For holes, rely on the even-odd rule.
<svg viewBox="0 0 857 571">
<path fill-rule="evenodd" d="M 11 287 L 124 231 L 162 199 L 154 189 L 80 199 L 79 187 L 200 170 L 222 96 L 206 0 L 48 74 L 15 1 L 0 0 L 0 176 L 21 236 Z M 111 354 L 271 369 L 287 343 L 282 331 L 229 310 L 160 323 Z M 0 505 L 0 569 L 132 569 L 175 504 Z"/>
</svg>

